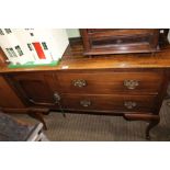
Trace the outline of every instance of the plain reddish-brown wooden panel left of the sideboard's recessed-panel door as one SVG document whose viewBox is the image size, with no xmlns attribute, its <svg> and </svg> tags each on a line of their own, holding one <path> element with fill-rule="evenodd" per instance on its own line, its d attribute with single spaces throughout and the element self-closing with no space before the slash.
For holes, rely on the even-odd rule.
<svg viewBox="0 0 170 170">
<path fill-rule="evenodd" d="M 20 98 L 14 93 L 2 76 L 0 76 L 0 107 L 24 107 Z"/>
</svg>

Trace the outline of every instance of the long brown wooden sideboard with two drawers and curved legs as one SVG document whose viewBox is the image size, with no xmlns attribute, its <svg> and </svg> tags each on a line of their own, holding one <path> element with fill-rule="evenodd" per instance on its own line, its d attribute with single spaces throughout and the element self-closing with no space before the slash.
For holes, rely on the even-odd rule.
<svg viewBox="0 0 170 170">
<path fill-rule="evenodd" d="M 155 54 L 118 54 L 88 57 L 81 39 L 71 41 L 56 67 L 0 69 L 11 87 L 16 106 L 5 112 L 29 113 L 44 122 L 50 110 L 122 115 L 146 121 L 146 138 L 160 121 L 159 110 L 170 79 L 170 46 Z M 2 91 L 5 89 L 1 89 Z M 21 102 L 24 107 L 19 107 Z M 45 124 L 45 122 L 44 122 Z"/>
</svg>

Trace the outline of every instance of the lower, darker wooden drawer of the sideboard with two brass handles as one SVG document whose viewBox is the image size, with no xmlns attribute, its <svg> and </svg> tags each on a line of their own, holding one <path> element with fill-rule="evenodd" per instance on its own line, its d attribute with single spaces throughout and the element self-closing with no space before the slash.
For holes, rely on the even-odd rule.
<svg viewBox="0 0 170 170">
<path fill-rule="evenodd" d="M 117 111 L 117 112 L 151 112 L 156 95 L 92 95 L 63 94 L 63 105 L 66 110 L 84 111 Z"/>
</svg>

